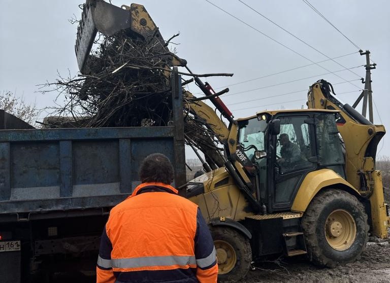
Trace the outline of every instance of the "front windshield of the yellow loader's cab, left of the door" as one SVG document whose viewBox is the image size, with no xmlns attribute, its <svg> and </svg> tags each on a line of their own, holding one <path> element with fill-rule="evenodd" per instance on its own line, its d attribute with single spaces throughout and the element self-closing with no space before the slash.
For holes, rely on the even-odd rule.
<svg viewBox="0 0 390 283">
<path fill-rule="evenodd" d="M 238 126 L 239 145 L 249 159 L 252 158 L 255 150 L 265 151 L 264 133 L 267 129 L 265 120 L 258 121 L 257 118 L 252 118 L 246 121 L 239 121 Z"/>
</svg>

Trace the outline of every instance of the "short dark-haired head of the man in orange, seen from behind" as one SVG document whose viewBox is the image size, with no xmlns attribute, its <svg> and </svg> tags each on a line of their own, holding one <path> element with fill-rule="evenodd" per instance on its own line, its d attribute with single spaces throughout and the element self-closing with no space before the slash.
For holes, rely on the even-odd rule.
<svg viewBox="0 0 390 283">
<path fill-rule="evenodd" d="M 174 178 L 171 161 L 161 153 L 148 155 L 141 163 L 140 178 L 142 183 L 161 182 L 170 185 Z"/>
</svg>

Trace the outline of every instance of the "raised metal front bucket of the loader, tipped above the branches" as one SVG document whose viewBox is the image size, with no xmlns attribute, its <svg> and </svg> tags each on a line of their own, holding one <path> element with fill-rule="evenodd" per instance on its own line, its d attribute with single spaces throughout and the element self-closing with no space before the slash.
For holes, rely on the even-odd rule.
<svg viewBox="0 0 390 283">
<path fill-rule="evenodd" d="M 158 27 L 150 18 L 144 6 L 131 4 L 121 8 L 106 3 L 103 0 L 87 0 L 77 29 L 76 57 L 80 72 L 87 74 L 87 59 L 91 51 L 96 33 L 100 31 L 106 36 L 125 30 L 131 38 L 146 40 L 154 38 L 165 48 L 165 42 Z M 167 52 L 168 49 L 166 50 Z"/>
</svg>

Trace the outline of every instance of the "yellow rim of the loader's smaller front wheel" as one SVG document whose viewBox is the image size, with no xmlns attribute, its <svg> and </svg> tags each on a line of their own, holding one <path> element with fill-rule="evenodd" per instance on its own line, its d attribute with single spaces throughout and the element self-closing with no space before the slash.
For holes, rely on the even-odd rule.
<svg viewBox="0 0 390 283">
<path fill-rule="evenodd" d="M 215 250 L 217 252 L 218 273 L 225 274 L 234 268 L 237 263 L 237 255 L 234 247 L 225 241 L 215 240 Z"/>
</svg>

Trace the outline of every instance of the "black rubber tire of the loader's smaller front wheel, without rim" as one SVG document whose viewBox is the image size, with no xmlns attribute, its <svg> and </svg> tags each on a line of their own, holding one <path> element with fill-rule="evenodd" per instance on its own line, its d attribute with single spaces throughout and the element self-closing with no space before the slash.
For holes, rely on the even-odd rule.
<svg viewBox="0 0 390 283">
<path fill-rule="evenodd" d="M 241 279 L 248 273 L 252 261 L 249 239 L 237 230 L 225 226 L 212 226 L 210 230 L 214 243 L 218 240 L 228 242 L 234 248 L 237 258 L 230 272 L 218 274 L 218 283 L 241 282 Z M 218 249 L 217 246 L 216 249 Z"/>
</svg>

